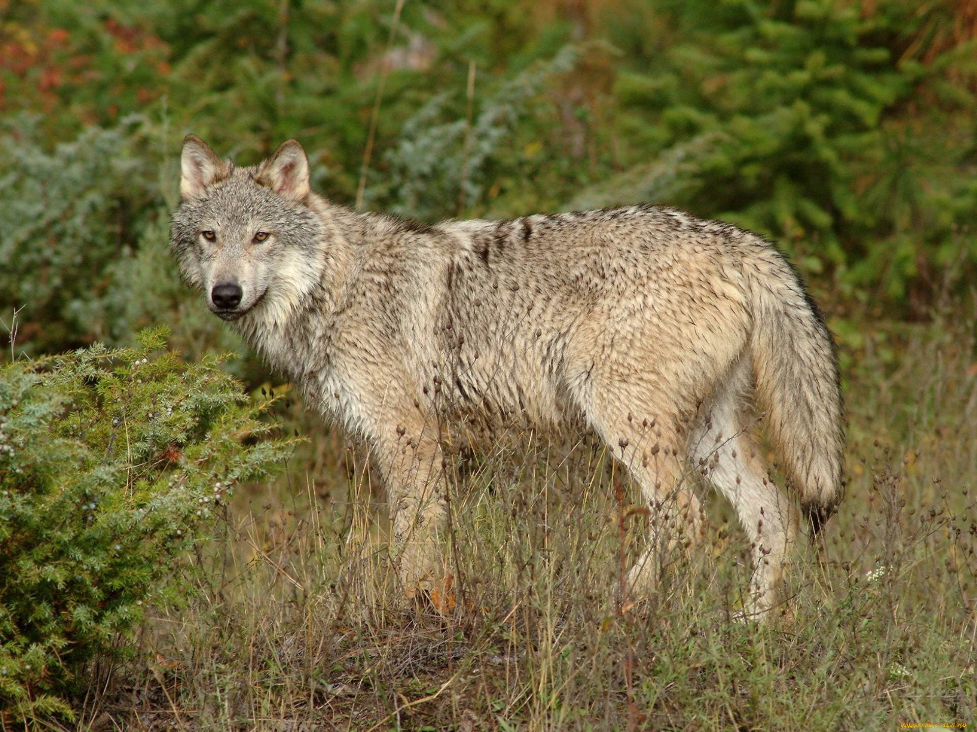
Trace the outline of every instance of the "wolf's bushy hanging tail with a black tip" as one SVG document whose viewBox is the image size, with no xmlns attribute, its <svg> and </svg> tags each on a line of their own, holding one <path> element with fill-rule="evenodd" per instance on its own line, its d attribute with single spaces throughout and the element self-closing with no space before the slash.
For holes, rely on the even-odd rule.
<svg viewBox="0 0 977 732">
<path fill-rule="evenodd" d="M 796 272 L 767 250 L 746 280 L 756 397 L 816 533 L 841 500 L 844 406 L 834 342 Z"/>
</svg>

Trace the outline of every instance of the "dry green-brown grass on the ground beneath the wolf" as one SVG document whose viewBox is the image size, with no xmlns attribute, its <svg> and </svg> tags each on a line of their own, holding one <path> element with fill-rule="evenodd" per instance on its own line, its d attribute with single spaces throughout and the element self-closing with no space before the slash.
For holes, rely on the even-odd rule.
<svg viewBox="0 0 977 732">
<path fill-rule="evenodd" d="M 600 446 L 521 435 L 462 465 L 445 550 L 457 606 L 401 599 L 359 448 L 312 440 L 238 496 L 183 607 L 138 661 L 93 676 L 93 729 L 893 730 L 977 717 L 977 355 L 958 314 L 846 343 L 847 496 L 764 625 L 732 616 L 748 547 L 710 542 L 625 605 L 617 487 Z M 328 494 L 328 495 L 326 495 Z M 627 598 L 624 598 L 625 600 Z"/>
</svg>

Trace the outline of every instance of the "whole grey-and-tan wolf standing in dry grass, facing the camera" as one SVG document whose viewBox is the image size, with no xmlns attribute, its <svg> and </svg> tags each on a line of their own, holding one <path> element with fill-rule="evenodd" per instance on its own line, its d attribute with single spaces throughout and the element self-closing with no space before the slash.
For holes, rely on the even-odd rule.
<svg viewBox="0 0 977 732">
<path fill-rule="evenodd" d="M 298 142 L 235 168 L 184 142 L 171 243 L 186 279 L 310 403 L 369 444 L 406 590 L 436 578 L 444 426 L 582 421 L 629 468 L 660 550 L 701 534 L 690 469 L 753 540 L 747 611 L 775 601 L 797 513 L 749 435 L 753 404 L 801 506 L 841 491 L 828 329 L 760 237 L 652 206 L 425 225 L 312 192 Z"/>
</svg>

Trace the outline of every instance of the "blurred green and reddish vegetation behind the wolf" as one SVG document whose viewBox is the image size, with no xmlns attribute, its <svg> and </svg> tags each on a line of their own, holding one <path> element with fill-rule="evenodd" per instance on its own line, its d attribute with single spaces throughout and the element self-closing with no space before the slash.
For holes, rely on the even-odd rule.
<svg viewBox="0 0 977 732">
<path fill-rule="evenodd" d="M 296 138 L 332 199 L 427 221 L 742 224 L 857 348 L 974 271 L 975 36 L 975 0 L 0 0 L 2 320 L 28 354 L 234 346 L 166 252 L 193 132 Z"/>
</svg>

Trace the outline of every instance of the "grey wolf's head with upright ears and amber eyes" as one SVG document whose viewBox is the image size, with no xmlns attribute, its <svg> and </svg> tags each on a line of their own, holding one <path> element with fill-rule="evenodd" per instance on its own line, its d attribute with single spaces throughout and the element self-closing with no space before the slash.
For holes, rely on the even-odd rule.
<svg viewBox="0 0 977 732">
<path fill-rule="evenodd" d="M 322 224 L 309 208 L 309 160 L 284 142 L 252 168 L 235 168 L 199 138 L 184 140 L 181 203 L 170 245 L 184 277 L 224 320 L 249 313 L 282 322 L 312 292 Z"/>
</svg>

